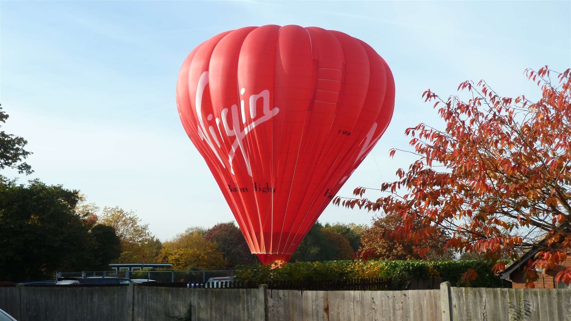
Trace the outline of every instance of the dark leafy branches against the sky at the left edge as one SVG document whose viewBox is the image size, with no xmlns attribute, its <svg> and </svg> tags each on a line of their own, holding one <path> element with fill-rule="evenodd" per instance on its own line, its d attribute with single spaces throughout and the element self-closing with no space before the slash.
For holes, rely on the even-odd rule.
<svg viewBox="0 0 571 321">
<path fill-rule="evenodd" d="M 0 122 L 6 123 L 8 118 L 9 115 L 0 107 Z M 0 170 L 9 167 L 18 170 L 19 174 L 29 175 L 34 172 L 29 164 L 22 163 L 31 154 L 24 149 L 27 143 L 22 137 L 0 131 Z"/>
</svg>

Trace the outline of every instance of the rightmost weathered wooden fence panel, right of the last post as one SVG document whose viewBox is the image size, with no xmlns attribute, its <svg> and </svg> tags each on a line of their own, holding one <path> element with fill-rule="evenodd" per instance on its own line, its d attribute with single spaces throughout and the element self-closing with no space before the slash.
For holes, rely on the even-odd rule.
<svg viewBox="0 0 571 321">
<path fill-rule="evenodd" d="M 452 320 L 571 321 L 571 290 L 452 287 Z"/>
</svg>

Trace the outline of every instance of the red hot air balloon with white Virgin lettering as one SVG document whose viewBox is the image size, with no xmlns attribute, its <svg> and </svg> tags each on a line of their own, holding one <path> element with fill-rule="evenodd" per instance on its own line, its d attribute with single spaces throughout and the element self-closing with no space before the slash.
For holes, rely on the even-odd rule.
<svg viewBox="0 0 571 321">
<path fill-rule="evenodd" d="M 252 253 L 287 262 L 391 121 L 395 83 L 339 31 L 244 27 L 203 42 L 176 86 L 180 121 Z"/>
</svg>

